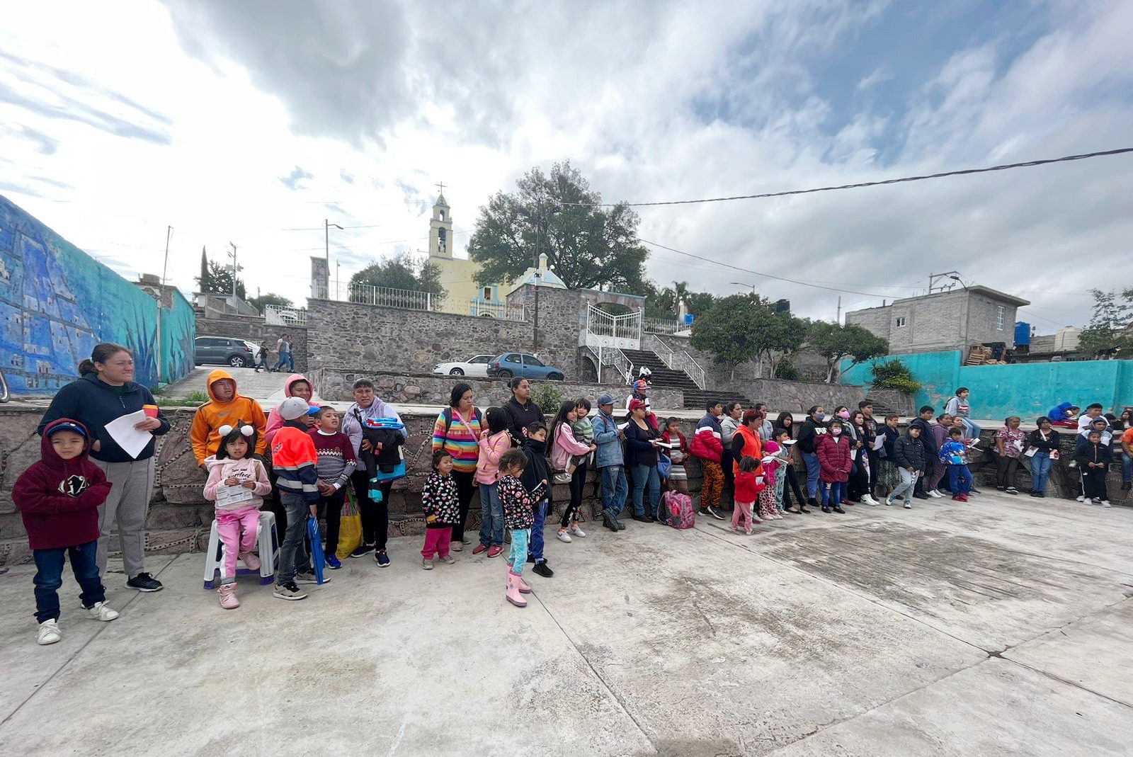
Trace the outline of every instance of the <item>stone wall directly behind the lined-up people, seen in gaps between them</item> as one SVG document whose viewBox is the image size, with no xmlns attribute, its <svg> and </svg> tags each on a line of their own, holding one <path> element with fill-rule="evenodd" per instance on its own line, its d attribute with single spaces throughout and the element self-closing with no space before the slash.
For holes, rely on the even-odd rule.
<svg viewBox="0 0 1133 757">
<path fill-rule="evenodd" d="M 11 488 L 19 474 L 40 457 L 40 439 L 35 434 L 35 427 L 42 414 L 42 407 L 23 403 L 0 409 L 0 424 L 5 428 L 5 433 L 0 434 L 0 565 L 31 560 L 24 524 L 11 501 Z M 196 468 L 188 445 L 194 410 L 167 408 L 165 414 L 172 427 L 159 441 L 157 477 L 147 520 L 146 550 L 165 553 L 197 552 L 207 545 L 213 505 L 201 495 L 204 475 Z M 391 536 L 417 535 L 423 530 L 420 488 L 428 475 L 432 428 L 436 416 L 433 412 L 404 412 L 402 418 L 409 432 L 406 461 L 410 475 L 394 484 L 390 496 Z M 983 446 L 989 445 L 994 432 L 995 429 L 985 432 Z M 1072 499 L 1079 492 L 1080 477 L 1077 470 L 1067 465 L 1073 457 L 1073 439 L 1064 434 L 1063 441 L 1063 456 L 1051 470 L 1048 495 Z M 699 463 L 691 459 L 687 469 L 689 487 L 693 493 L 699 492 Z M 973 462 L 972 469 L 979 484 L 994 485 L 994 462 L 981 458 Z M 1107 483 L 1110 500 L 1121 502 L 1123 492 L 1119 463 L 1110 468 Z M 1026 491 L 1029 485 L 1030 474 L 1021 470 L 1020 488 Z M 597 494 L 591 475 L 583 492 L 583 517 L 587 519 L 593 517 Z M 566 486 L 554 487 L 554 500 L 555 509 L 561 512 L 563 504 L 569 501 Z M 547 522 L 553 528 L 556 520 L 548 518 Z M 472 499 L 472 512 L 469 516 L 470 533 L 475 534 L 478 527 L 477 496 Z M 111 550 L 117 550 L 117 541 L 111 542 Z"/>
</svg>

